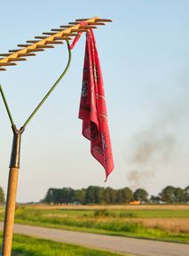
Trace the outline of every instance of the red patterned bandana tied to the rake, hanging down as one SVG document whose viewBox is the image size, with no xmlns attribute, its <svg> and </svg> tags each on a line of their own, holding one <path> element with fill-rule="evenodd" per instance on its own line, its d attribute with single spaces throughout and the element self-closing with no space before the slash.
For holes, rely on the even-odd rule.
<svg viewBox="0 0 189 256">
<path fill-rule="evenodd" d="M 75 38 L 70 46 L 71 49 L 79 37 Z M 91 140 L 91 154 L 104 166 L 107 179 L 114 169 L 114 160 L 107 123 L 102 72 L 95 37 L 91 29 L 86 34 L 79 118 L 83 120 L 83 136 Z"/>
</svg>

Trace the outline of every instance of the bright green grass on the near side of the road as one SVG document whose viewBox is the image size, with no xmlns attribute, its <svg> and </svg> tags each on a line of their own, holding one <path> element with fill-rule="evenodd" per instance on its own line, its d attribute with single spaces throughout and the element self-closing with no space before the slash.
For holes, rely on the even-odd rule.
<svg viewBox="0 0 189 256">
<path fill-rule="evenodd" d="M 2 237 L 2 234 L 1 234 Z M 1 239 L 2 243 L 2 239 Z M 106 252 L 85 248 L 73 244 L 62 244 L 31 236 L 13 236 L 12 256 L 121 256 L 114 252 Z M 127 254 L 128 255 L 128 254 Z M 129 255 L 128 255 L 129 256 Z"/>
</svg>

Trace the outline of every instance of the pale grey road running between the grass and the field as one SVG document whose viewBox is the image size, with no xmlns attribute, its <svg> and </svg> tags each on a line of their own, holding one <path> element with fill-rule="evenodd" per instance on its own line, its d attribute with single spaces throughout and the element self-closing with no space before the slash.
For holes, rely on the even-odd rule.
<svg viewBox="0 0 189 256">
<path fill-rule="evenodd" d="M 0 222 L 0 230 L 3 223 Z M 140 256 L 189 256 L 188 244 L 174 244 L 119 236 L 105 236 L 55 228 L 14 225 L 14 233 L 50 239 L 68 244 L 105 249 Z"/>
</svg>

